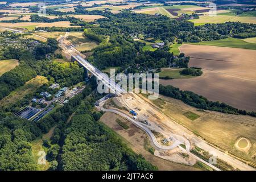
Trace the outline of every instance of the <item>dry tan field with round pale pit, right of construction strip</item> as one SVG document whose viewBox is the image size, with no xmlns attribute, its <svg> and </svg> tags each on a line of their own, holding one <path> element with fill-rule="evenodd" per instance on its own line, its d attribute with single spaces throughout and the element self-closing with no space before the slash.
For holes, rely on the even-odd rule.
<svg viewBox="0 0 256 182">
<path fill-rule="evenodd" d="M 163 113 L 177 123 L 187 127 L 196 135 L 200 135 L 222 150 L 256 164 L 256 159 L 253 159 L 256 152 L 255 118 L 214 111 L 200 111 L 174 98 L 161 95 L 160 98 L 166 103 L 162 105 Z M 191 115 L 191 113 L 193 114 Z M 187 117 L 188 114 L 189 118 L 192 116 L 191 119 Z M 241 136 L 248 139 L 252 144 L 248 152 L 240 151 L 235 147 L 237 139 Z"/>
</svg>

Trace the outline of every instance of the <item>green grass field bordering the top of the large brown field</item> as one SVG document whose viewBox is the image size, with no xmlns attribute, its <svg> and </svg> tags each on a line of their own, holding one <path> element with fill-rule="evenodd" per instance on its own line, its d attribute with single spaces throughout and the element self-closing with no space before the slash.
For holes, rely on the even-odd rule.
<svg viewBox="0 0 256 182">
<path fill-rule="evenodd" d="M 243 39 L 235 39 L 235 38 L 226 38 L 226 39 L 220 39 L 220 40 L 212 40 L 212 41 L 205 41 L 205 42 L 199 42 L 199 43 L 186 43 L 186 44 L 234 47 L 234 48 L 256 50 L 256 44 L 245 42 Z"/>
</svg>

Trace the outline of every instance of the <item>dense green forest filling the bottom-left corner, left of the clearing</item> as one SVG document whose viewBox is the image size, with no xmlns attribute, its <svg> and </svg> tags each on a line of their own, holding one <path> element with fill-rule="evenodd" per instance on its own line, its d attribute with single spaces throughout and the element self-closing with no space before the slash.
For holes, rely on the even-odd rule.
<svg viewBox="0 0 256 182">
<path fill-rule="evenodd" d="M 41 135 L 36 123 L 0 112 L 0 170 L 36 170 L 31 143 Z"/>
</svg>

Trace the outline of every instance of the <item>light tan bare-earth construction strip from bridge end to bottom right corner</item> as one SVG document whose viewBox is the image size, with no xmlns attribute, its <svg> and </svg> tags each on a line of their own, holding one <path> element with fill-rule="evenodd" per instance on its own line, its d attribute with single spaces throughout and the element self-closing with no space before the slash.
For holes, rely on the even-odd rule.
<svg viewBox="0 0 256 182">
<path fill-rule="evenodd" d="M 253 167 L 242 163 L 240 160 L 234 159 L 232 156 L 210 146 L 203 139 L 197 137 L 191 131 L 167 117 L 146 98 L 140 97 L 137 94 L 123 94 L 121 97 L 117 97 L 117 100 L 127 109 L 134 110 L 135 107 L 140 108 L 141 110 L 137 111 L 138 116 L 146 115 L 148 122 L 152 124 L 153 128 L 151 128 L 151 130 L 160 131 L 164 136 L 180 136 L 181 138 L 177 139 L 180 140 L 180 142 L 185 143 L 186 146 L 186 142 L 189 141 L 189 143 L 208 151 L 209 154 L 214 154 L 217 158 L 224 160 L 234 168 L 240 170 L 255 170 Z"/>
</svg>

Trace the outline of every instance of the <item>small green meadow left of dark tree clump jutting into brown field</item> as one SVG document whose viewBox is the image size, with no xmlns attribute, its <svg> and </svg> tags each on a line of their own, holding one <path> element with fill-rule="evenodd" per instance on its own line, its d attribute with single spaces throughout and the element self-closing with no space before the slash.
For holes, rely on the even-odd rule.
<svg viewBox="0 0 256 182">
<path fill-rule="evenodd" d="M 182 75 L 180 71 L 183 70 L 182 68 L 162 68 L 161 72 L 159 73 L 159 77 L 166 77 L 169 76 L 174 79 L 179 78 L 191 78 L 191 75 Z"/>
</svg>

